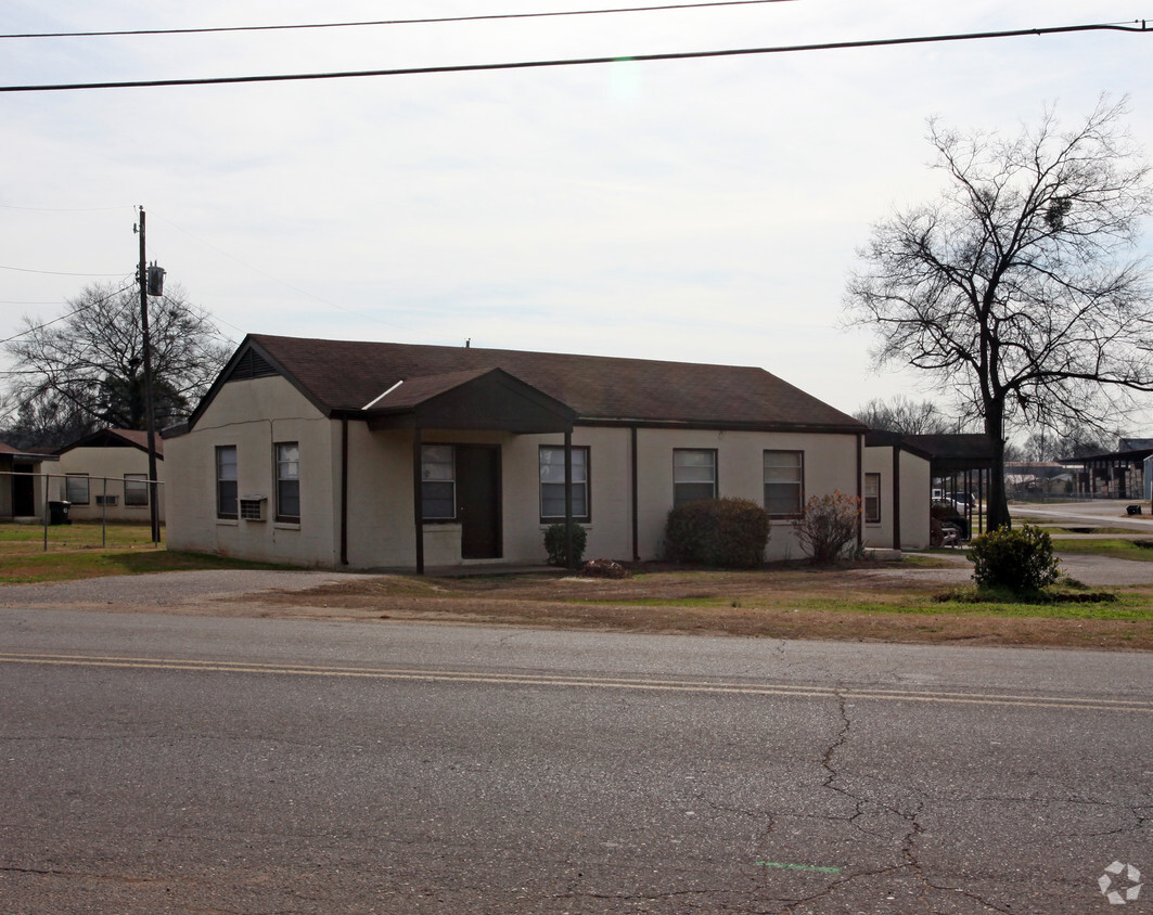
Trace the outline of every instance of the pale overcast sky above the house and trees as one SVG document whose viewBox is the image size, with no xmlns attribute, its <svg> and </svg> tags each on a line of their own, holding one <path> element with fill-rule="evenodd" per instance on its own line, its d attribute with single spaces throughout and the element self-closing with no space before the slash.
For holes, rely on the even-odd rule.
<svg viewBox="0 0 1153 915">
<path fill-rule="evenodd" d="M 638 6 L 646 0 L 636 0 Z M 0 32 L 537 13 L 589 0 L 5 0 Z M 787 0 L 483 22 L 0 39 L 0 84 L 778 47 L 1128 22 L 1133 0 Z M 1151 22 L 1153 25 L 1153 22 Z M 926 120 L 1130 97 L 1153 29 L 316 82 L 0 93 L 0 338 L 148 256 L 246 333 L 760 365 L 846 411 L 929 392 L 837 326 L 869 226 L 941 187 Z M 1153 251 L 1146 234 L 1145 250 Z M 1133 430 L 1138 431 L 1138 430 Z"/>
</svg>

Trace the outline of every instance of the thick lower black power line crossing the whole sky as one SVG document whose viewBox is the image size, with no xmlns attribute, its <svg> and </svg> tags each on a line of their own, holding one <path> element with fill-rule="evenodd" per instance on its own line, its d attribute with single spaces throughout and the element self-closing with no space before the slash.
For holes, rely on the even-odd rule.
<svg viewBox="0 0 1153 915">
<path fill-rule="evenodd" d="M 1020 38 L 1024 36 L 1071 35 L 1075 32 L 1120 31 L 1150 32 L 1145 20 L 1133 24 L 1099 23 L 1093 25 L 1057 25 L 1043 29 L 1013 29 L 997 32 L 970 32 L 963 35 L 934 35 L 914 38 L 880 38 L 864 41 L 829 41 L 812 45 L 785 45 L 779 47 L 744 47 L 726 51 L 683 51 L 666 54 L 630 54 L 611 58 L 573 58 L 566 60 L 536 60 L 505 63 L 458 63 L 442 67 L 404 67 L 382 70 L 344 70 L 330 73 L 276 74 L 265 76 L 217 76 L 183 80 L 130 80 L 107 83 L 58 83 L 46 85 L 5 85 L 0 92 L 59 92 L 74 89 L 145 89 L 178 85 L 229 85 L 236 83 L 285 83 L 312 80 L 348 80 L 366 76 L 416 76 L 444 73 L 478 73 L 489 70 L 527 70 L 544 67 L 580 67 L 595 63 L 651 62 L 658 60 L 699 60 L 702 58 L 734 58 L 756 54 L 783 54 L 800 51 L 847 51 L 864 47 L 888 47 L 920 45 L 942 41 L 971 41 L 986 38 Z"/>
</svg>

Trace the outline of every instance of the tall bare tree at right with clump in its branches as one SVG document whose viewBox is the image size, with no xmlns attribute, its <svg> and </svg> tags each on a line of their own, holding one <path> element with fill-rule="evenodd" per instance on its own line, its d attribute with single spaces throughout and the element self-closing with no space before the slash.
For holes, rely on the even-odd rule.
<svg viewBox="0 0 1153 915">
<path fill-rule="evenodd" d="M 1150 277 L 1133 258 L 1153 209 L 1148 165 L 1102 98 L 1012 138 L 929 122 L 947 187 L 876 224 L 845 294 L 876 365 L 921 369 L 981 417 L 995 455 L 990 528 L 1009 524 L 1007 422 L 1105 430 L 1153 391 Z"/>
</svg>

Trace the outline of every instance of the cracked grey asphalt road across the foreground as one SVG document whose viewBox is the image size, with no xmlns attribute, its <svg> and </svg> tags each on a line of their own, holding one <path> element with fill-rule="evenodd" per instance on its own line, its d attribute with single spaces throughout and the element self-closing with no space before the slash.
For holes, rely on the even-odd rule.
<svg viewBox="0 0 1153 915">
<path fill-rule="evenodd" d="M 1080 915 L 1153 872 L 1148 655 L 3 610 L 0 701 L 3 913 Z"/>
</svg>

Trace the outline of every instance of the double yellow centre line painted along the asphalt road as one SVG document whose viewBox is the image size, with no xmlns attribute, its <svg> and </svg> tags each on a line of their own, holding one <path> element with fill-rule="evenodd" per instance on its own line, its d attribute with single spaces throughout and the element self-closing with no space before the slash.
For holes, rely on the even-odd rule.
<svg viewBox="0 0 1153 915">
<path fill-rule="evenodd" d="M 789 686 L 785 683 L 726 683 L 715 680 L 649 680 L 620 676 L 581 676 L 534 673 L 483 673 L 408 667 L 327 667 L 304 664 L 202 660 L 183 658 L 121 658 L 99 655 L 32 655 L 0 652 L 0 664 L 105 667 L 134 671 L 277 674 L 281 676 L 340 676 L 368 680 L 491 683 L 500 686 L 582 687 L 670 693 L 711 693 L 737 696 L 782 696 L 877 702 L 928 702 L 957 705 L 1008 705 L 1032 709 L 1072 709 L 1095 712 L 1153 712 L 1153 701 L 1107 700 L 1090 696 L 1045 696 L 997 693 L 949 693 L 867 687 Z"/>
</svg>

